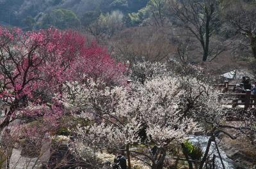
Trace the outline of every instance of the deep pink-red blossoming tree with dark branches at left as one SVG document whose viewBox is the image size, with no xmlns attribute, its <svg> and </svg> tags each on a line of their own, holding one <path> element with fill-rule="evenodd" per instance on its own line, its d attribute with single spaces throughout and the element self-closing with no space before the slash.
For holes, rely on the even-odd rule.
<svg viewBox="0 0 256 169">
<path fill-rule="evenodd" d="M 94 42 L 87 45 L 76 31 L 50 28 L 24 33 L 19 28 L 0 27 L 0 97 L 10 105 L 0 131 L 28 101 L 51 102 L 68 81 L 100 78 L 107 84 L 121 84 L 124 72 L 124 64 L 116 63 Z M 61 106 L 51 108 L 60 112 Z"/>
</svg>

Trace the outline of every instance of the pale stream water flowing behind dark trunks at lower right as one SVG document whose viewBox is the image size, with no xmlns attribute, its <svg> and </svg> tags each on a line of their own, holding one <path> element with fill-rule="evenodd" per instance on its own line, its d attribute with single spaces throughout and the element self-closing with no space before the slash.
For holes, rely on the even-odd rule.
<svg viewBox="0 0 256 169">
<path fill-rule="evenodd" d="M 190 136 L 188 139 L 194 145 L 198 144 L 199 142 L 200 147 L 202 148 L 202 151 L 205 152 L 205 149 L 207 147 L 207 143 L 209 140 L 209 136 Z M 218 140 L 216 140 L 216 142 L 218 143 Z M 223 160 L 225 169 L 235 169 L 234 162 L 227 157 L 227 154 L 223 150 L 221 150 L 220 147 L 219 147 L 219 150 L 220 150 L 221 158 Z M 209 151 L 209 155 L 211 155 L 211 158 L 213 154 L 215 154 L 216 156 L 216 159 L 215 159 L 216 166 L 218 166 L 218 168 L 223 168 L 214 142 L 211 143 L 211 147 Z"/>
</svg>

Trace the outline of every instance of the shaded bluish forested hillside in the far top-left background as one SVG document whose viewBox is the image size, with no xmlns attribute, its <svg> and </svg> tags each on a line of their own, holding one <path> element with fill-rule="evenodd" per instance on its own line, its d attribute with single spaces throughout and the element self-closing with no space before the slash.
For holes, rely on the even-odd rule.
<svg viewBox="0 0 256 169">
<path fill-rule="evenodd" d="M 100 13 L 105 14 L 118 10 L 122 11 L 128 18 L 128 13 L 136 13 L 141 8 L 144 8 L 148 1 L 2 0 L 0 1 L 0 24 L 20 26 L 26 30 L 46 28 L 49 26 L 66 29 L 68 27 L 77 27 L 80 24 L 79 20 L 81 20 L 82 24 L 87 26 L 97 20 Z M 83 6 L 85 7 L 84 11 L 81 10 Z M 87 8 L 86 6 L 89 7 Z"/>
</svg>

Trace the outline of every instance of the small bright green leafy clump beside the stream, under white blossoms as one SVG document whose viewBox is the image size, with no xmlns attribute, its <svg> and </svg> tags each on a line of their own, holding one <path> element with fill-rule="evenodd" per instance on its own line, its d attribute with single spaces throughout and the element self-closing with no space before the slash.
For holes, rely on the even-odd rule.
<svg viewBox="0 0 256 169">
<path fill-rule="evenodd" d="M 185 148 L 188 151 L 188 156 L 191 157 L 191 159 L 196 160 L 196 159 L 201 159 L 203 156 L 202 149 L 200 148 L 199 145 L 193 145 L 193 143 L 189 142 L 189 140 L 186 140 L 184 142 Z"/>
</svg>

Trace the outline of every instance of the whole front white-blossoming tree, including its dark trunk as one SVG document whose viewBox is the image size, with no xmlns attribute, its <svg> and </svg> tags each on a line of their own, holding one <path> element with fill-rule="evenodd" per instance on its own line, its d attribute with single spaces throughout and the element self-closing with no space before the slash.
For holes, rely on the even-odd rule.
<svg viewBox="0 0 256 169">
<path fill-rule="evenodd" d="M 78 139 L 87 145 L 125 151 L 130 168 L 130 156 L 151 168 L 163 168 L 168 151 L 200 129 L 196 114 L 207 112 L 208 118 L 214 118 L 211 114 L 220 109 L 212 87 L 196 78 L 168 74 L 125 87 L 90 80 L 70 83 L 66 106 L 92 122 L 79 128 Z"/>
</svg>

